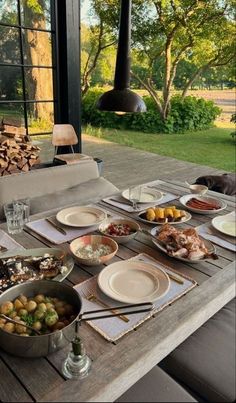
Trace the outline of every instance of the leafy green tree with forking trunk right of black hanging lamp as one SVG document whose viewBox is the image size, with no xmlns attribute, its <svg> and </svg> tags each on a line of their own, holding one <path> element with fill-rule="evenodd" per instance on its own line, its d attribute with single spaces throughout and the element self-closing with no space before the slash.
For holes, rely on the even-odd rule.
<svg viewBox="0 0 236 403">
<path fill-rule="evenodd" d="M 152 96 L 163 120 L 170 111 L 181 61 L 195 66 L 182 83 L 184 97 L 204 71 L 233 59 L 234 4 L 235 0 L 133 0 L 132 47 L 136 60 L 146 66 L 146 75 L 134 68 L 132 76 Z M 115 29 L 117 1 L 104 0 L 103 7 L 106 22 Z M 162 97 L 157 92 L 160 84 Z"/>
</svg>

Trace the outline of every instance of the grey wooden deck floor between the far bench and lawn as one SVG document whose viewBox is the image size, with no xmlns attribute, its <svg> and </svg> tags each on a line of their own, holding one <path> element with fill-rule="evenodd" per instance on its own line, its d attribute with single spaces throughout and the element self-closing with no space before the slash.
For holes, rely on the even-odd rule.
<svg viewBox="0 0 236 403">
<path fill-rule="evenodd" d="M 50 140 L 37 141 L 41 147 L 42 162 L 53 158 Z M 201 175 L 220 175 L 225 171 L 206 165 L 197 165 L 174 158 L 164 157 L 135 148 L 114 144 L 83 135 L 83 153 L 103 161 L 102 176 L 122 189 L 129 184 L 145 183 L 155 179 L 173 179 L 193 182 Z"/>
</svg>

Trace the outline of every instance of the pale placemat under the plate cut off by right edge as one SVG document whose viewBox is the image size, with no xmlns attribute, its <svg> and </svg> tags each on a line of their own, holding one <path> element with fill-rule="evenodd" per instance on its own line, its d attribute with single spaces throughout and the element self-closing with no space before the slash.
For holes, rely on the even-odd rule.
<svg viewBox="0 0 236 403">
<path fill-rule="evenodd" d="M 232 214 L 232 213 L 230 213 Z M 236 252 L 236 239 L 225 235 L 218 231 L 211 225 L 211 223 L 202 224 L 197 227 L 198 234 L 203 238 L 215 243 L 216 245 L 222 246 L 225 249 L 229 249 Z"/>
</svg>

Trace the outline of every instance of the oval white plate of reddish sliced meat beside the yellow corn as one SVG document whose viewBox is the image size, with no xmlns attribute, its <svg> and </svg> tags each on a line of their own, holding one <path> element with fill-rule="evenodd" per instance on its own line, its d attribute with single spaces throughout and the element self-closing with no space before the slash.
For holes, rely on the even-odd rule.
<svg viewBox="0 0 236 403">
<path fill-rule="evenodd" d="M 179 201 L 188 210 L 199 214 L 215 214 L 224 210 L 227 206 L 223 200 L 196 194 L 182 196 Z"/>
</svg>

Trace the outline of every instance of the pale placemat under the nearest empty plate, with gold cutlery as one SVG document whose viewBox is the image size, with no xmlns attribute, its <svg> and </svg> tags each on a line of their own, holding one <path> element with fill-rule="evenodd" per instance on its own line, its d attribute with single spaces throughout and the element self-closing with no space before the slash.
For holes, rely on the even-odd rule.
<svg viewBox="0 0 236 403">
<path fill-rule="evenodd" d="M 109 341 L 118 340 L 120 337 L 124 336 L 126 333 L 130 332 L 131 330 L 138 327 L 141 323 L 151 318 L 154 314 L 160 312 L 167 305 L 173 303 L 182 295 L 185 295 L 188 291 L 190 291 L 197 285 L 197 282 L 195 280 L 191 279 L 186 275 L 179 274 L 177 271 L 170 269 L 169 267 L 163 265 L 162 263 L 159 263 L 157 260 L 155 260 L 149 255 L 146 255 L 145 253 L 141 253 L 129 260 L 151 263 L 152 265 L 165 270 L 167 274 L 170 273 L 177 275 L 183 281 L 183 284 L 179 284 L 176 281 L 170 279 L 169 291 L 167 292 L 166 295 L 159 298 L 153 304 L 154 310 L 152 310 L 152 312 L 143 312 L 133 315 L 127 315 L 126 313 L 124 313 L 124 315 L 127 316 L 129 319 L 129 322 L 127 323 L 122 321 L 119 317 L 87 321 L 87 323 L 89 323 L 90 326 L 92 326 L 98 333 L 100 333 L 105 339 Z M 93 294 L 96 295 L 97 298 L 99 298 L 101 301 L 103 301 L 111 308 L 126 305 L 111 299 L 110 297 L 106 296 L 102 291 L 100 291 L 97 285 L 97 276 L 91 277 L 89 280 L 86 280 L 83 283 L 74 286 L 74 288 L 78 291 L 78 293 L 82 298 L 83 312 L 104 308 L 98 302 L 88 301 L 86 299 L 86 297 L 90 294 L 91 290 Z"/>
</svg>

